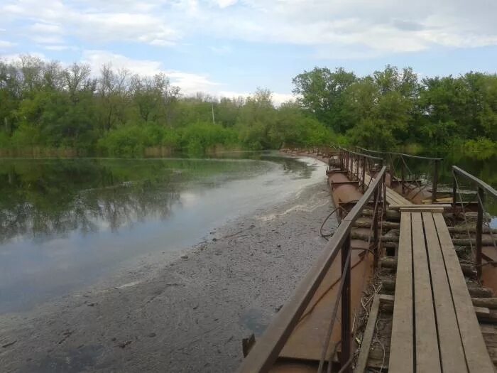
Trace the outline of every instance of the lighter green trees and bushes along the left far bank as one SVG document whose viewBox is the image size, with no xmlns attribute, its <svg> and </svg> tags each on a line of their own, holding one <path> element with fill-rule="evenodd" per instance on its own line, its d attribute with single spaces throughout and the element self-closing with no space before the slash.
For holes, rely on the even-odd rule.
<svg viewBox="0 0 497 373">
<path fill-rule="evenodd" d="M 183 97 L 163 75 L 23 56 L 0 62 L 0 153 L 158 156 L 328 144 L 332 134 L 296 103 L 251 97 Z"/>
</svg>

